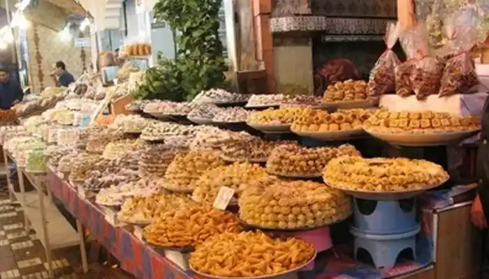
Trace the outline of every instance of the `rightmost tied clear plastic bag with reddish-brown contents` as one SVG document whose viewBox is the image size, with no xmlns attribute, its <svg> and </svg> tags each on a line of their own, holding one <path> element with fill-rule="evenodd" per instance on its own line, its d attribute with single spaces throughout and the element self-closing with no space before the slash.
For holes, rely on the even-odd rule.
<svg viewBox="0 0 489 279">
<path fill-rule="evenodd" d="M 472 6 L 446 17 L 444 28 L 448 43 L 439 55 L 446 57 L 447 61 L 441 75 L 439 96 L 467 93 L 479 84 L 470 50 L 485 39 L 481 36 L 481 25 L 481 15 Z"/>
</svg>

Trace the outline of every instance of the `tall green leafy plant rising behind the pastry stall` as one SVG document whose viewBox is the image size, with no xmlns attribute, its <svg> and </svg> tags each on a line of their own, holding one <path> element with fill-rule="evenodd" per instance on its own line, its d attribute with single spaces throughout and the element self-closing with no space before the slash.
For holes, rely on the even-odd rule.
<svg viewBox="0 0 489 279">
<path fill-rule="evenodd" d="M 187 100 L 202 90 L 222 86 L 226 63 L 219 40 L 221 0 L 159 0 L 154 18 L 168 22 L 177 33 L 175 60 L 162 59 L 160 68 L 169 80 L 166 87 Z"/>
</svg>

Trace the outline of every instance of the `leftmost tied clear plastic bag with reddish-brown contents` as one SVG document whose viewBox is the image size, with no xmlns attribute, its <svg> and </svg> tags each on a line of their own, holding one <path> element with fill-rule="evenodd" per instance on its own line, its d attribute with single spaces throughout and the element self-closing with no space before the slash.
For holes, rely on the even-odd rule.
<svg viewBox="0 0 489 279">
<path fill-rule="evenodd" d="M 367 90 L 370 96 L 380 96 L 384 93 L 393 92 L 395 89 L 394 69 L 400 61 L 392 48 L 397 42 L 400 33 L 400 24 L 388 24 L 386 31 L 386 51 L 379 57 L 370 72 Z"/>
</svg>

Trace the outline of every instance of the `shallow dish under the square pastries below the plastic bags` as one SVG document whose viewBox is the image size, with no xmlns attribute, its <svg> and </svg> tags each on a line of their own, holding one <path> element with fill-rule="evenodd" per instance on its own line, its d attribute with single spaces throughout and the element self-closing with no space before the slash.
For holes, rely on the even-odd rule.
<svg viewBox="0 0 489 279">
<path fill-rule="evenodd" d="M 446 133 L 383 133 L 381 131 L 365 129 L 365 132 L 377 137 L 379 140 L 401 146 L 438 146 L 456 143 L 471 137 L 479 130 L 467 130 Z"/>
</svg>

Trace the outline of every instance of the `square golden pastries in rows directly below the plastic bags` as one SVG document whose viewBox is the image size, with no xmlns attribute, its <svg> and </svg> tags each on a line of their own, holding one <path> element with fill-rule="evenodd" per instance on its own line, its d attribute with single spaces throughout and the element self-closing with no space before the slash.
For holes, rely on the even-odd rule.
<svg viewBox="0 0 489 279">
<path fill-rule="evenodd" d="M 381 110 L 365 121 L 365 128 L 381 133 L 446 133 L 479 130 L 476 116 L 446 112 L 388 112 Z"/>
</svg>

